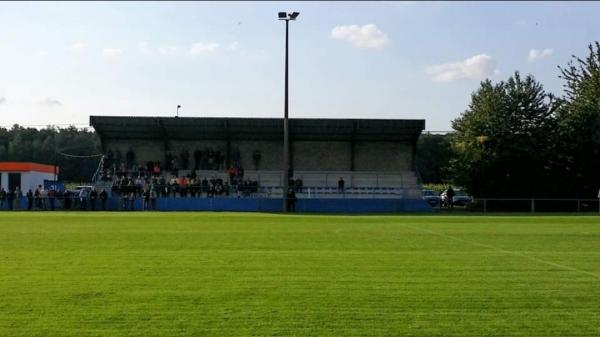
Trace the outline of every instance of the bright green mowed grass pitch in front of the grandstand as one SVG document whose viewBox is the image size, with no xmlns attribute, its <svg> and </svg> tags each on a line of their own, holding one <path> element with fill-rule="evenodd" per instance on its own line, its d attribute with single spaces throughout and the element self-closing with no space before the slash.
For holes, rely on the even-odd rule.
<svg viewBox="0 0 600 337">
<path fill-rule="evenodd" d="M 600 217 L 4 212 L 0 336 L 600 336 Z"/>
</svg>

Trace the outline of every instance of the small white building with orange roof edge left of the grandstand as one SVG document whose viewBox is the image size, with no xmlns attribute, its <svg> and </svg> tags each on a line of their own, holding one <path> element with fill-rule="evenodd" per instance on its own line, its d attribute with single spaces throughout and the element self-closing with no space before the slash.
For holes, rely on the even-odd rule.
<svg viewBox="0 0 600 337">
<path fill-rule="evenodd" d="M 54 165 L 0 162 L 0 187 L 11 191 L 19 187 L 25 193 L 44 186 L 44 180 L 56 180 L 58 173 L 59 168 Z"/>
</svg>

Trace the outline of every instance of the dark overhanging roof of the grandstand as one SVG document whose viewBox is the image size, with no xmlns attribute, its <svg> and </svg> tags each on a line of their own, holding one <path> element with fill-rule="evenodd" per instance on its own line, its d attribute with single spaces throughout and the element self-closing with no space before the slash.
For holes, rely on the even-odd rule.
<svg viewBox="0 0 600 337">
<path fill-rule="evenodd" d="M 103 139 L 280 140 L 281 118 L 90 116 Z M 290 118 L 293 140 L 414 141 L 423 119 Z"/>
</svg>

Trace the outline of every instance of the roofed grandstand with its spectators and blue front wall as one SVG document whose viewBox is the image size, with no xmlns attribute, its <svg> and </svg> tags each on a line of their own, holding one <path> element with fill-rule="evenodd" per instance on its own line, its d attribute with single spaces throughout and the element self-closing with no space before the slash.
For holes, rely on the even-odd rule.
<svg viewBox="0 0 600 337">
<path fill-rule="evenodd" d="M 282 119 L 90 116 L 90 125 L 104 152 L 94 186 L 120 198 L 109 208 L 281 209 Z M 414 169 L 424 128 L 424 120 L 290 119 L 294 208 L 428 210 Z"/>
</svg>

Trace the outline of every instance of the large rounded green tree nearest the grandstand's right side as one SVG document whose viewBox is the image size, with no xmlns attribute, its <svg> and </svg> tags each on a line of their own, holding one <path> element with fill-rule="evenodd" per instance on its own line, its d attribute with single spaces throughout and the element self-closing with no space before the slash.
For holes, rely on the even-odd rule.
<svg viewBox="0 0 600 337">
<path fill-rule="evenodd" d="M 547 163 L 554 142 L 548 135 L 558 107 L 531 75 L 482 82 L 468 109 L 452 121 L 454 182 L 479 197 L 551 194 Z"/>
</svg>

